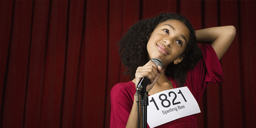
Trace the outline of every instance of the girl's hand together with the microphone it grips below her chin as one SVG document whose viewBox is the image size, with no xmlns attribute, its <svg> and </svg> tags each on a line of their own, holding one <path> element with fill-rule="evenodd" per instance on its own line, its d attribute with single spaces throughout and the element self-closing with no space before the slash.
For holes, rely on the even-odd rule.
<svg viewBox="0 0 256 128">
<path fill-rule="evenodd" d="M 145 89 L 146 92 L 149 92 L 163 73 L 162 68 L 163 62 L 158 58 L 153 58 L 144 66 L 138 67 L 135 73 L 136 93 L 140 93 Z"/>
</svg>

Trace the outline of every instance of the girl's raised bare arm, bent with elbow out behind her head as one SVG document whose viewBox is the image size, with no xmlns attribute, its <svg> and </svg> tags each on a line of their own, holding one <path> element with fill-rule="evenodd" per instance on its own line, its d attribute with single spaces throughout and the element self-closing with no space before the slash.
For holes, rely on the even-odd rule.
<svg viewBox="0 0 256 128">
<path fill-rule="evenodd" d="M 236 36 L 234 26 L 219 26 L 195 31 L 198 42 L 212 42 L 212 48 L 220 60 Z"/>
</svg>

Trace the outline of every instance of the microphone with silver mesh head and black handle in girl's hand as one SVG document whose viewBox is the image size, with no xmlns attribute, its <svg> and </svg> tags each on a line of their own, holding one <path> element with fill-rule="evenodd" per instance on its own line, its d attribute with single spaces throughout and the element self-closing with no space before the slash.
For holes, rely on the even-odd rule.
<svg viewBox="0 0 256 128">
<path fill-rule="evenodd" d="M 153 61 L 154 64 L 156 64 L 157 66 L 161 66 L 161 68 L 163 69 L 163 62 L 159 58 L 152 58 L 151 61 Z M 145 92 L 146 87 L 148 86 L 149 83 L 150 79 L 148 77 L 140 79 L 140 82 L 138 83 L 136 88 L 136 102 L 139 102 L 140 93 Z"/>
</svg>

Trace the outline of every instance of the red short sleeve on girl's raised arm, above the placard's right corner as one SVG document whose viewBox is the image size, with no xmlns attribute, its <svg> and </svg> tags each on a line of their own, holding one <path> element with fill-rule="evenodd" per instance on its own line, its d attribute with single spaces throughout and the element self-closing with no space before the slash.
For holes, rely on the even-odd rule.
<svg viewBox="0 0 256 128">
<path fill-rule="evenodd" d="M 199 101 L 208 83 L 223 81 L 223 73 L 218 57 L 211 45 L 201 47 L 203 58 L 187 73 L 186 85 Z"/>
</svg>

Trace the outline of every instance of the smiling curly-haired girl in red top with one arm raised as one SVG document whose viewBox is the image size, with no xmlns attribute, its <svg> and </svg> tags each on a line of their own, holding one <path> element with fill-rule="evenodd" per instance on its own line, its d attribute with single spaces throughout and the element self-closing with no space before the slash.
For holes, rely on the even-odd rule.
<svg viewBox="0 0 256 128">
<path fill-rule="evenodd" d="M 118 83 L 111 90 L 110 127 L 137 127 L 134 99 L 136 86 L 144 77 L 151 81 L 146 88 L 149 95 L 187 86 L 199 101 L 208 82 L 223 80 L 219 60 L 235 35 L 234 26 L 194 31 L 185 17 L 169 13 L 135 23 L 119 41 L 119 55 L 131 81 Z M 211 45 L 199 49 L 197 41 Z M 150 61 L 152 58 L 160 58 L 163 69 Z M 197 128 L 196 116 L 176 119 L 157 128 Z"/>
</svg>

